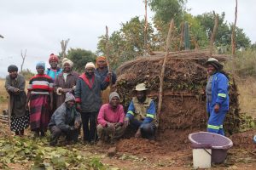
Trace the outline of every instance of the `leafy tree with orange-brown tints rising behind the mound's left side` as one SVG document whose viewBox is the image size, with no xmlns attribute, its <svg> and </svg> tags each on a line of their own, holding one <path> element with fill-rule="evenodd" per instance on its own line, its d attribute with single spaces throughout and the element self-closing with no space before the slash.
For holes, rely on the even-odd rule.
<svg viewBox="0 0 256 170">
<path fill-rule="evenodd" d="M 108 59 L 113 68 L 117 68 L 124 61 L 134 59 L 144 54 L 144 20 L 139 17 L 131 18 L 130 21 L 121 24 L 119 31 L 113 31 L 109 37 L 109 54 Z M 154 50 L 154 30 L 148 23 L 147 29 L 147 50 Z M 99 37 L 97 44 L 97 53 L 107 54 L 106 36 Z"/>
</svg>

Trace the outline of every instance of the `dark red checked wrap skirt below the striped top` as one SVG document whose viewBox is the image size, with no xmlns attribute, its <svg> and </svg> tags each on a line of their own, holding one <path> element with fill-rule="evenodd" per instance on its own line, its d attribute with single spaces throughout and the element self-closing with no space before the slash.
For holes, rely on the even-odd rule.
<svg viewBox="0 0 256 170">
<path fill-rule="evenodd" d="M 46 132 L 49 123 L 49 95 L 32 94 L 30 99 L 30 127 Z"/>
</svg>

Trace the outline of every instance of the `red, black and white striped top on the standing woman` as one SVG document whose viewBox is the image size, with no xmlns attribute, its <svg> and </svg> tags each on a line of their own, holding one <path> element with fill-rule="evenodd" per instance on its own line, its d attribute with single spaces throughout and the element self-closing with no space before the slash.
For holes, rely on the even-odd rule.
<svg viewBox="0 0 256 170">
<path fill-rule="evenodd" d="M 45 74 L 36 75 L 30 79 L 27 90 L 31 94 L 49 94 L 53 90 L 53 79 Z"/>
</svg>

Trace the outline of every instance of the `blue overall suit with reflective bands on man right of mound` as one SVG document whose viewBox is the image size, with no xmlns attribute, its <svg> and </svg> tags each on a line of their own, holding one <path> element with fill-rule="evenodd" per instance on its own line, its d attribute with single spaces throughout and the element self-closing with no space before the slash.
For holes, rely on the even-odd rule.
<svg viewBox="0 0 256 170">
<path fill-rule="evenodd" d="M 207 102 L 207 112 L 210 114 L 207 131 L 224 135 L 223 123 L 229 111 L 229 80 L 224 74 L 216 72 L 212 78 L 212 100 Z M 219 105 L 219 111 L 214 111 L 214 106 Z"/>
</svg>

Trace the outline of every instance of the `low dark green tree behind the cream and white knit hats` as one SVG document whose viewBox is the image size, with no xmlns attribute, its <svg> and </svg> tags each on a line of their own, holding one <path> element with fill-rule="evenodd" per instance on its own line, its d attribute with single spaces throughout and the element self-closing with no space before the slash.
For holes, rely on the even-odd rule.
<svg viewBox="0 0 256 170">
<path fill-rule="evenodd" d="M 83 72 L 88 62 L 96 62 L 96 54 L 82 48 L 70 48 L 67 51 L 67 58 L 73 61 L 73 69 Z"/>
</svg>

